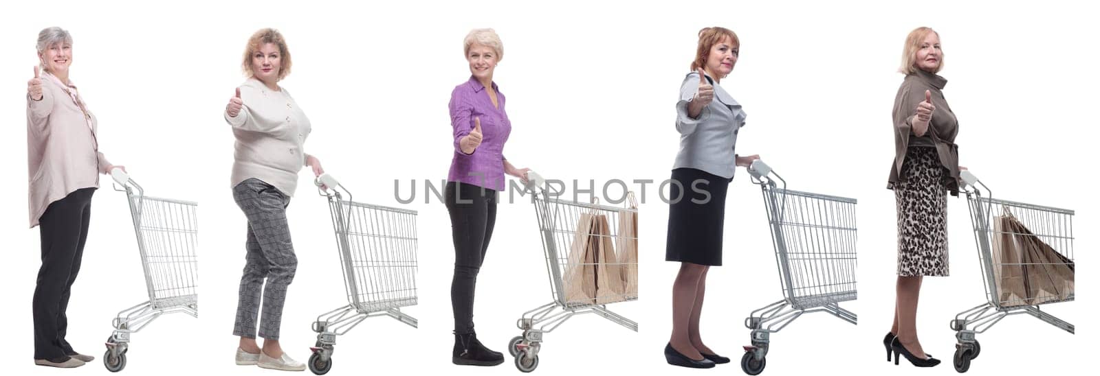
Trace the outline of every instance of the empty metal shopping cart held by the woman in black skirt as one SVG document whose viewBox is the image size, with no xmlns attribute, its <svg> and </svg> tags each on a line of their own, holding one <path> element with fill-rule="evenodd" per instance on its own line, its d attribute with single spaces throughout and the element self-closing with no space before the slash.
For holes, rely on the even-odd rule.
<svg viewBox="0 0 1100 376">
<path fill-rule="evenodd" d="M 752 345 L 745 346 L 741 369 L 759 375 L 767 365 L 771 333 L 803 313 L 828 312 L 856 323 L 856 313 L 839 306 L 856 300 L 856 200 L 789 190 L 759 159 L 748 170 L 763 192 L 783 290 L 783 300 L 745 319 Z"/>
</svg>

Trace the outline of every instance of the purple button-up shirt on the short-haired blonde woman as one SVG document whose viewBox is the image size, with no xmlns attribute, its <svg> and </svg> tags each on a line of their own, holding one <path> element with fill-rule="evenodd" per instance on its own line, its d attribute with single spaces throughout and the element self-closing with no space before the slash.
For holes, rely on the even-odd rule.
<svg viewBox="0 0 1100 376">
<path fill-rule="evenodd" d="M 454 157 L 448 181 L 471 184 L 504 190 L 504 143 L 512 133 L 512 122 L 504 111 L 504 95 L 493 82 L 499 108 L 485 92 L 485 86 L 473 76 L 451 91 L 451 126 L 454 128 Z M 474 118 L 481 119 L 482 143 L 472 154 L 462 153 L 460 141 L 474 130 Z"/>
</svg>

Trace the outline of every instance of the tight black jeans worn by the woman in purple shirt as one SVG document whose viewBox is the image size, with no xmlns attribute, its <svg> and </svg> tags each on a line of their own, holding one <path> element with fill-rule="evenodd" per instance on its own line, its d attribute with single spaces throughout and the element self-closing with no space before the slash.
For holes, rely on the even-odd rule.
<svg viewBox="0 0 1100 376">
<path fill-rule="evenodd" d="M 454 332 L 474 332 L 474 286 L 485 259 L 485 250 L 496 223 L 497 191 L 474 185 L 448 181 L 443 202 L 451 214 L 454 241 L 454 278 L 451 280 L 451 308 Z"/>
</svg>

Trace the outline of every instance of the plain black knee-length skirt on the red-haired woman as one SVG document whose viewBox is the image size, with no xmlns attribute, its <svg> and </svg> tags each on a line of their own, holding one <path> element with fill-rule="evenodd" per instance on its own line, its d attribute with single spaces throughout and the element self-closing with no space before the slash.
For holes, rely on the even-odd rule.
<svg viewBox="0 0 1100 376">
<path fill-rule="evenodd" d="M 730 180 L 695 168 L 672 170 L 666 261 L 722 265 L 726 190 Z"/>
</svg>

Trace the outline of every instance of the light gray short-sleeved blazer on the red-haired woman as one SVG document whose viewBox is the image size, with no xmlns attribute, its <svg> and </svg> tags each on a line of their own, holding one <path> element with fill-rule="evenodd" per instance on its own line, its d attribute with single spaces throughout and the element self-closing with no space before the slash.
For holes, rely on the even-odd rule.
<svg viewBox="0 0 1100 376">
<path fill-rule="evenodd" d="M 730 179 L 736 170 L 737 132 L 745 126 L 745 111 L 711 77 L 707 80 L 714 86 L 714 100 L 703 108 L 698 119 L 688 117 L 688 102 L 698 90 L 698 74 L 688 74 L 680 85 L 676 102 L 680 152 L 672 168 L 695 168 Z"/>
</svg>

